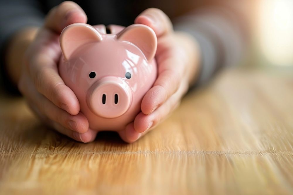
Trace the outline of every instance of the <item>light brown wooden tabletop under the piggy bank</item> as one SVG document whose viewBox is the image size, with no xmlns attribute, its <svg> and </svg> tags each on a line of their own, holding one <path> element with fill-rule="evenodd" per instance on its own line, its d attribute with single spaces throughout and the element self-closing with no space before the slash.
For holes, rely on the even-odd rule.
<svg viewBox="0 0 293 195">
<path fill-rule="evenodd" d="M 293 191 L 293 72 L 226 70 L 133 144 L 78 143 L 0 99 L 0 194 Z"/>
</svg>

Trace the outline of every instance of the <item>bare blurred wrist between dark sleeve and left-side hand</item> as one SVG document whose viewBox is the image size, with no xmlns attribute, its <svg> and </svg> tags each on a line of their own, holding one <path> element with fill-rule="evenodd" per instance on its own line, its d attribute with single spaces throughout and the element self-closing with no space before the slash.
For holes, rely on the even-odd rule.
<svg viewBox="0 0 293 195">
<path fill-rule="evenodd" d="M 22 65 L 24 65 L 25 51 L 35 38 L 38 27 L 27 27 L 16 32 L 8 42 L 5 58 L 5 70 L 11 82 L 16 85 L 19 81 Z"/>
</svg>

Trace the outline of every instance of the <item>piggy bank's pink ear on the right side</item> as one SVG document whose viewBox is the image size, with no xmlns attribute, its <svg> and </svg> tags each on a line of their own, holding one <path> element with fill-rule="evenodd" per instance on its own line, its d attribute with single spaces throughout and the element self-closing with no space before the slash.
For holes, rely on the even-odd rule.
<svg viewBox="0 0 293 195">
<path fill-rule="evenodd" d="M 157 37 L 150 27 L 142 24 L 133 24 L 117 34 L 120 41 L 131 42 L 136 45 L 147 58 L 152 60 L 157 50 Z"/>
</svg>

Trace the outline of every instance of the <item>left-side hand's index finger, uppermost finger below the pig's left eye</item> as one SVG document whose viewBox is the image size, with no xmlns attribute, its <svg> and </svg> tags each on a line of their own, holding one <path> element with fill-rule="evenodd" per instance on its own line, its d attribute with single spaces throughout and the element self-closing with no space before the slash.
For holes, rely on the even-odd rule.
<svg viewBox="0 0 293 195">
<path fill-rule="evenodd" d="M 59 76 L 54 59 L 40 54 L 34 57 L 30 64 L 30 75 L 38 92 L 69 114 L 78 114 L 79 101 Z"/>
</svg>

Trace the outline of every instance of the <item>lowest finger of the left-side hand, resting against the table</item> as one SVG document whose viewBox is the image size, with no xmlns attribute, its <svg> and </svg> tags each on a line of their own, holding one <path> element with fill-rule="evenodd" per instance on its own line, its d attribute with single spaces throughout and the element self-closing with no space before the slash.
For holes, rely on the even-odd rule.
<svg viewBox="0 0 293 195">
<path fill-rule="evenodd" d="M 97 131 L 88 129 L 87 132 L 81 134 L 75 131 L 71 131 L 70 129 L 67 129 L 65 127 L 63 127 L 62 125 L 58 124 L 57 122 L 52 122 L 52 127 L 57 130 L 58 132 L 76 140 L 76 141 L 81 141 L 84 143 L 88 143 L 88 142 L 92 142 L 93 140 L 95 140 L 96 135 L 97 135 Z"/>
</svg>

